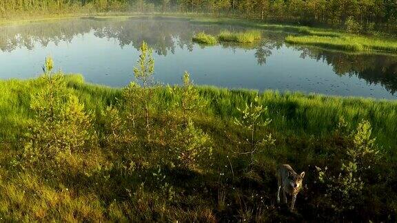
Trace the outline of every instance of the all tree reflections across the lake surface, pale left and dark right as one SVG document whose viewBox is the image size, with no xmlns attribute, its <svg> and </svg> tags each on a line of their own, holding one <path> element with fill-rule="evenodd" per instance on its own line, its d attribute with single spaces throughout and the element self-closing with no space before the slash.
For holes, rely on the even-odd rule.
<svg viewBox="0 0 397 223">
<path fill-rule="evenodd" d="M 20 47 L 33 50 L 38 44 L 58 45 L 70 43 L 75 36 L 92 32 L 99 38 L 116 39 L 120 47 L 132 45 L 139 49 L 146 41 L 159 55 L 174 53 L 176 47 L 192 51 L 195 32 L 205 31 L 217 34 L 220 30 L 241 31 L 243 28 L 231 25 L 201 25 L 185 20 L 133 19 L 125 21 L 96 21 L 94 19 L 71 19 L 53 23 L 32 23 L 28 25 L 0 27 L 0 50 L 12 52 Z M 263 41 L 247 45 L 222 43 L 225 48 L 254 50 L 259 65 L 265 65 L 272 50 L 283 46 L 285 34 L 265 32 Z M 391 94 L 397 91 L 397 56 L 354 55 L 329 52 L 316 48 L 295 47 L 301 57 L 325 61 L 334 67 L 338 75 L 356 75 L 368 83 L 380 83 Z"/>
</svg>

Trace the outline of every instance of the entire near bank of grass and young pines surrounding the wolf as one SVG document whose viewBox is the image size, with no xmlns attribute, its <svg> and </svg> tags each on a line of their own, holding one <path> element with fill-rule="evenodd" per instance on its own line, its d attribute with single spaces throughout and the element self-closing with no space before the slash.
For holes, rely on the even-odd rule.
<svg viewBox="0 0 397 223">
<path fill-rule="evenodd" d="M 395 102 L 153 85 L 140 49 L 123 89 L 50 58 L 0 82 L 4 220 L 395 219 Z M 296 213 L 275 205 L 285 162 L 306 171 Z"/>
</svg>

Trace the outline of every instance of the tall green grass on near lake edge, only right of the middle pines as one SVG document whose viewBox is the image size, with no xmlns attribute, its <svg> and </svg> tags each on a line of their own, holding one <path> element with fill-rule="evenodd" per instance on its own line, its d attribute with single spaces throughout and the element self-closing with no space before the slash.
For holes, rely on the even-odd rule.
<svg viewBox="0 0 397 223">
<path fill-rule="evenodd" d="M 238 114 L 236 108 L 252 101 L 256 95 L 252 90 L 200 89 L 203 97 L 212 102 L 210 111 L 224 120 L 235 117 Z M 273 118 L 271 127 L 286 134 L 325 136 L 334 129 L 340 116 L 351 125 L 367 119 L 374 127 L 378 142 L 390 151 L 396 149 L 393 145 L 393 135 L 397 131 L 396 101 L 266 91 L 261 94 L 261 102 L 269 107 Z"/>
</svg>

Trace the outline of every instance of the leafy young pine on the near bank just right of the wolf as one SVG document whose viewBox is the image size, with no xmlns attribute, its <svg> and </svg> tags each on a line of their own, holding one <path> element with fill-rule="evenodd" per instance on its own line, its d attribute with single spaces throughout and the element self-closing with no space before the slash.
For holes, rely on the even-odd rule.
<svg viewBox="0 0 397 223">
<path fill-rule="evenodd" d="M 338 132 L 345 129 L 347 124 L 342 118 L 338 123 Z M 354 209 L 356 204 L 362 203 L 363 189 L 365 182 L 364 176 L 371 176 L 368 172 L 377 164 L 380 152 L 375 143 L 375 138 L 371 138 L 371 124 L 367 120 L 362 120 L 352 134 L 347 134 L 346 148 L 343 148 L 340 166 L 327 173 L 327 167 L 317 167 L 318 180 L 324 184 L 329 203 L 336 211 Z M 368 187 L 368 186 L 367 186 Z M 366 187 L 366 188 L 367 188 Z"/>
</svg>

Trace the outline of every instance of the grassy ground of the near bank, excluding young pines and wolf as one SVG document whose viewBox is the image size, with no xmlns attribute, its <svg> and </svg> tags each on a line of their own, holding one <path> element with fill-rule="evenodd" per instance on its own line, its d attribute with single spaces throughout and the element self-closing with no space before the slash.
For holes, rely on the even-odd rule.
<svg viewBox="0 0 397 223">
<path fill-rule="evenodd" d="M 218 222 L 394 220 L 396 217 L 397 195 L 388 185 L 396 180 L 397 173 L 383 171 L 395 169 L 396 163 L 397 103 L 394 101 L 272 91 L 256 98 L 257 92 L 252 90 L 195 87 L 205 106 L 189 113 L 196 130 L 190 132 L 194 137 L 185 141 L 183 138 L 190 135 L 180 138 L 180 127 L 175 124 L 182 121 L 183 113 L 177 102 L 185 93 L 179 94 L 178 87 L 172 90 L 155 87 L 147 104 L 152 116 L 152 139 L 148 141 L 141 127 L 135 127 L 135 133 L 130 132 L 132 126 L 141 125 L 141 119 L 136 116 L 132 125 L 123 89 L 91 85 L 80 75 L 65 76 L 64 81 L 65 91 L 77 96 L 83 107 L 65 101 L 61 105 L 67 107 L 62 112 L 83 108 L 89 114 L 93 128 L 90 132 L 95 137 L 85 145 L 89 150 L 67 153 L 63 165 L 47 172 L 43 171 L 48 168 L 45 160 L 35 161 L 33 166 L 24 160 L 31 145 L 26 141 L 32 131 L 30 126 L 45 114 L 45 106 L 37 107 L 37 103 L 46 105 L 46 102 L 34 102 L 33 98 L 51 85 L 46 85 L 43 78 L 0 81 L 3 220 Z M 260 116 L 260 122 L 272 119 L 268 127 L 256 129 L 255 138 L 260 140 L 271 133 L 275 140 L 274 145 L 256 151 L 254 160 L 246 153 L 251 147 L 245 143 L 251 137 L 249 132 L 235 124 L 236 118 L 241 117 L 238 108 L 250 103 L 267 107 L 268 112 Z M 134 105 L 138 106 L 136 109 L 141 106 Z M 79 112 L 73 114 L 73 117 L 86 117 Z M 347 125 L 340 124 L 341 116 Z M 344 176 L 340 165 L 349 158 L 344 155 L 345 150 L 362 137 L 360 128 L 357 132 L 354 129 L 360 127 L 363 119 L 371 123 L 368 137 L 376 138 L 383 160 L 371 164 L 371 170 L 360 171 L 365 174 L 360 181 L 366 185 L 359 195 L 348 190 L 349 197 L 340 200 L 339 193 L 327 189 L 327 185 L 331 182 L 336 189 L 346 190 L 350 187 L 344 186 L 345 178 L 325 178 L 328 179 L 325 183 L 319 179 L 332 174 Z M 128 128 L 123 129 L 124 125 Z M 68 129 L 68 124 L 58 128 Z M 175 149 L 185 146 L 181 143 L 196 148 L 203 142 L 205 147 L 212 148 L 210 158 L 194 156 L 189 161 L 193 166 L 180 166 L 172 159 Z M 360 145 L 366 146 L 365 143 Z M 306 171 L 306 186 L 298 195 L 295 213 L 275 202 L 274 171 L 285 162 L 296 171 Z M 320 172 L 314 167 L 327 167 L 326 175 L 318 175 Z M 358 176 L 354 178 L 357 179 Z M 334 195 L 336 200 L 329 200 Z M 347 204 L 356 208 L 334 209 L 335 205 Z"/>
</svg>

